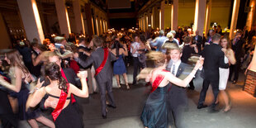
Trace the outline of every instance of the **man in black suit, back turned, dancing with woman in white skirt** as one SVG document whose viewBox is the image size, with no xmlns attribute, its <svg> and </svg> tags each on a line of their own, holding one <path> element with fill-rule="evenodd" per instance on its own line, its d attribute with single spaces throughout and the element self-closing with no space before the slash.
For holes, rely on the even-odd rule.
<svg viewBox="0 0 256 128">
<path fill-rule="evenodd" d="M 203 103 L 206 99 L 206 92 L 211 84 L 212 92 L 214 94 L 214 101 L 211 104 L 211 111 L 216 111 L 216 99 L 219 93 L 219 68 L 227 69 L 229 64 L 224 62 L 224 53 L 221 51 L 220 34 L 215 34 L 212 36 L 212 44 L 206 45 L 204 50 L 202 50 L 201 55 L 205 58 L 203 68 L 204 68 L 204 81 L 202 84 L 198 109 L 207 107 Z"/>
</svg>

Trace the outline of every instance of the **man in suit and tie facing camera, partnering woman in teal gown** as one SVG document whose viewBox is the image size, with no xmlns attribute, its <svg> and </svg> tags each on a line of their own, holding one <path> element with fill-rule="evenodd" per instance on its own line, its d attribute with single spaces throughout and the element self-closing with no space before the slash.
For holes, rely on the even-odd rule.
<svg viewBox="0 0 256 128">
<path fill-rule="evenodd" d="M 172 45 L 172 46 L 171 46 Z M 177 44 L 169 44 L 166 55 L 170 57 L 170 61 L 167 66 L 167 70 L 173 73 L 176 77 L 180 77 L 182 73 L 187 69 L 191 69 L 191 66 L 184 64 L 181 61 L 182 50 L 179 49 Z M 168 84 L 168 118 L 174 119 L 175 126 L 177 128 L 183 128 L 185 123 L 183 122 L 183 112 L 187 107 L 187 91 L 186 88 L 176 86 L 175 84 Z M 173 114 L 173 115 L 172 115 Z"/>
</svg>

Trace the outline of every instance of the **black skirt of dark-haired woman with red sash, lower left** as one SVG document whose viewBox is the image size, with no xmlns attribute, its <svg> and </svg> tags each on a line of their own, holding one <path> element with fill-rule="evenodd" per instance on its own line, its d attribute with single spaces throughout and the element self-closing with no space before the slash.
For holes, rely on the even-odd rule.
<svg viewBox="0 0 256 128">
<path fill-rule="evenodd" d="M 83 116 L 79 113 L 77 103 L 69 102 L 55 120 L 56 128 L 83 128 Z"/>
</svg>

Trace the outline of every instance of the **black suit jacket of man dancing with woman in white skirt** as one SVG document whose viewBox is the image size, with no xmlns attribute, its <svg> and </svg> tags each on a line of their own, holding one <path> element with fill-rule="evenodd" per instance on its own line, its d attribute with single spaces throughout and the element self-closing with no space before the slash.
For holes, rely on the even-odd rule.
<svg viewBox="0 0 256 128">
<path fill-rule="evenodd" d="M 205 58 L 203 64 L 205 79 L 219 81 L 219 68 L 229 68 L 229 64 L 224 62 L 224 53 L 221 49 L 220 45 L 212 43 L 211 45 L 206 45 L 202 50 L 201 56 Z"/>
</svg>

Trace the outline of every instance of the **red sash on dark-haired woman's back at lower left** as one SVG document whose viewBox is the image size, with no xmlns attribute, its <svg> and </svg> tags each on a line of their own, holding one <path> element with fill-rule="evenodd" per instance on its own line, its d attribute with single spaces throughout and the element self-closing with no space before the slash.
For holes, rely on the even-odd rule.
<svg viewBox="0 0 256 128">
<path fill-rule="evenodd" d="M 69 92 L 69 86 L 68 86 L 68 92 Z M 60 97 L 59 97 L 59 102 L 57 104 L 57 107 L 55 108 L 55 110 L 51 113 L 51 115 L 53 116 L 54 118 L 54 121 L 56 121 L 57 117 L 59 116 L 60 112 L 62 111 L 64 105 L 65 105 L 65 102 L 67 100 L 67 97 L 68 97 L 68 92 L 64 92 L 63 90 L 61 90 L 61 93 L 60 93 Z"/>
</svg>

